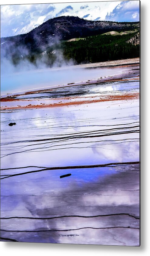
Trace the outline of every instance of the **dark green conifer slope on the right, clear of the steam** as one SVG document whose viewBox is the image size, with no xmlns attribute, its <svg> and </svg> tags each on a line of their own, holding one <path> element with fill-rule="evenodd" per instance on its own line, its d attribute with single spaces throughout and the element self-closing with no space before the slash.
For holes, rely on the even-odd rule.
<svg viewBox="0 0 150 256">
<path fill-rule="evenodd" d="M 63 54 L 77 63 L 134 58 L 139 57 L 139 45 L 129 40 L 136 38 L 136 34 L 89 36 L 83 40 L 63 42 L 61 47 Z"/>
</svg>

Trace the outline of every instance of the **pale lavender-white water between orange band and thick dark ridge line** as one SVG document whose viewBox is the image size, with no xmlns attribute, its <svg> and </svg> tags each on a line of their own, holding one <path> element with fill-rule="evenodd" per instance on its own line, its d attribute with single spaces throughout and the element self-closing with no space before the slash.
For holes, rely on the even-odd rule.
<svg viewBox="0 0 150 256">
<path fill-rule="evenodd" d="M 2 156 L 9 154 L 1 158 L 2 168 L 8 168 L 10 163 L 12 167 L 35 165 L 35 159 L 36 166 L 49 167 L 139 161 L 138 133 L 111 135 L 138 129 L 128 128 L 138 125 L 133 123 L 139 121 L 138 104 L 138 101 L 101 102 L 69 108 L 32 109 L 7 113 L 7 116 L 2 113 L 2 144 L 21 141 L 1 145 Z M 16 125 L 9 127 L 10 122 Z M 127 123 L 133 124 L 127 126 Z M 115 128 L 118 130 L 106 130 Z M 87 133 L 105 136 L 77 138 Z M 64 138 L 69 136 L 73 138 Z M 57 137 L 62 139 L 55 140 Z M 47 140 L 52 138 L 53 141 Z M 32 142 L 39 139 L 44 141 Z M 31 141 L 23 142 L 26 140 Z"/>
</svg>

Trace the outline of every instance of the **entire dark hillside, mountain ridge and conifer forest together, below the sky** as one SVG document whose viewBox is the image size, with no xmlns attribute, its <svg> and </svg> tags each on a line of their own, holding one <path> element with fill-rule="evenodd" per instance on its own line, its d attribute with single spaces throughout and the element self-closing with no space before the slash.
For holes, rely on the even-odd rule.
<svg viewBox="0 0 150 256">
<path fill-rule="evenodd" d="M 61 66 L 62 59 L 80 64 L 138 57 L 139 40 L 134 43 L 134 38 L 139 26 L 139 22 L 56 17 L 26 34 L 1 38 L 1 61 L 6 58 L 16 65 L 27 59 L 35 65 L 38 61 L 51 67 L 54 62 Z"/>
</svg>

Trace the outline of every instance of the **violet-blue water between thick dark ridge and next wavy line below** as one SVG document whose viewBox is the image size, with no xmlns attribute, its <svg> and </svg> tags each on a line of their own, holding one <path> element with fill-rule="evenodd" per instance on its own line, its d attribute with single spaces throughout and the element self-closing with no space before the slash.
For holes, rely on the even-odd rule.
<svg viewBox="0 0 150 256">
<path fill-rule="evenodd" d="M 137 197 L 138 193 L 133 191 L 132 198 L 125 190 L 128 187 L 138 189 L 138 168 L 138 165 L 125 165 L 124 170 L 119 166 L 117 169 L 70 169 L 67 171 L 72 175 L 61 179 L 60 175 L 67 173 L 66 170 L 42 171 L 6 178 L 1 181 L 1 212 L 3 215 L 6 211 L 9 216 L 35 216 L 45 209 L 43 214 L 48 216 L 56 211 L 57 216 L 62 214 L 61 211 L 63 214 L 66 212 L 65 215 L 79 212 L 82 215 L 97 215 L 96 212 L 88 214 L 91 209 L 87 209 L 87 213 L 83 209 L 88 205 L 132 205 L 137 203 L 135 194 Z M 137 183 L 132 183 L 133 178 Z M 74 204 L 75 201 L 77 204 Z M 65 208 L 66 205 L 68 209 Z M 73 212 L 71 205 L 78 212 Z M 60 207 L 60 213 L 57 207 Z"/>
</svg>

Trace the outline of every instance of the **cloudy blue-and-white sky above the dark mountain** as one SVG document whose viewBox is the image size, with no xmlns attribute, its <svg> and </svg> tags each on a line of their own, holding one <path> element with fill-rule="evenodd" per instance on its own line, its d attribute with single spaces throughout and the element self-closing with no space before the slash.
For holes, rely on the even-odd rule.
<svg viewBox="0 0 150 256">
<path fill-rule="evenodd" d="M 46 20 L 78 16 L 88 20 L 139 21 L 139 1 L 1 5 L 1 37 L 29 32 Z"/>
</svg>

